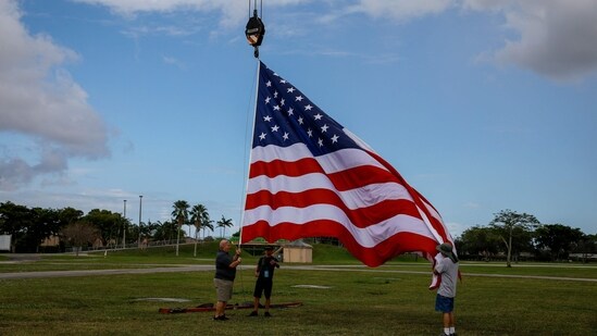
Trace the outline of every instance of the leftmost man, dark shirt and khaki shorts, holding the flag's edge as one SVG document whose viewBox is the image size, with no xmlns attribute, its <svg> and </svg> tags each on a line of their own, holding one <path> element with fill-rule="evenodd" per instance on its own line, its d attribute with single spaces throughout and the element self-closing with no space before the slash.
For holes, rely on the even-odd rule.
<svg viewBox="0 0 597 336">
<path fill-rule="evenodd" d="M 241 262 L 240 249 L 236 249 L 236 253 L 231 258 L 228 251 L 232 244 L 227 239 L 220 241 L 220 250 L 215 257 L 215 276 L 213 284 L 217 296 L 215 303 L 215 315 L 213 320 L 226 321 L 225 309 L 227 301 L 232 298 L 234 278 L 236 277 L 236 266 Z"/>
</svg>

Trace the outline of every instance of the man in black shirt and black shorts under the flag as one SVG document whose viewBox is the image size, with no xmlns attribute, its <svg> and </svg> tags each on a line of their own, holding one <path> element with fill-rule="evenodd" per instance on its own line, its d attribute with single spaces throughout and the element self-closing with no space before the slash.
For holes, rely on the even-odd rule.
<svg viewBox="0 0 597 336">
<path fill-rule="evenodd" d="M 274 270 L 279 269 L 278 260 L 273 257 L 273 247 L 265 247 L 265 256 L 259 259 L 257 263 L 257 269 L 254 271 L 254 276 L 257 282 L 254 284 L 253 291 L 253 311 L 249 316 L 257 316 L 259 310 L 259 300 L 261 299 L 261 294 L 265 296 L 265 316 L 270 318 L 270 297 L 272 296 L 272 287 L 274 285 Z"/>
</svg>

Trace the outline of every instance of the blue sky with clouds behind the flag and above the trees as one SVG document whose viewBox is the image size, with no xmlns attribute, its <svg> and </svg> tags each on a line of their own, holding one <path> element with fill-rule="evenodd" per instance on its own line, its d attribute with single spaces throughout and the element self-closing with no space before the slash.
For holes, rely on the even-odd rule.
<svg viewBox="0 0 597 336">
<path fill-rule="evenodd" d="M 238 231 L 249 4 L 0 0 L 0 202 L 126 209 L 137 224 L 186 200 Z M 596 1 L 258 9 L 261 61 L 393 164 L 452 236 L 507 209 L 597 233 Z"/>
</svg>

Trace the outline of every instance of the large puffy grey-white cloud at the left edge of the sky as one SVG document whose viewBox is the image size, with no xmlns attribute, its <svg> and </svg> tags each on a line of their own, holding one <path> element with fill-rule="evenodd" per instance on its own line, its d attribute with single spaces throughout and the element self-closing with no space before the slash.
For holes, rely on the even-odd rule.
<svg viewBox="0 0 597 336">
<path fill-rule="evenodd" d="M 70 158 L 109 154 L 105 125 L 60 67 L 77 54 L 48 36 L 32 36 L 20 20 L 17 2 L 0 2 L 0 133 L 27 137 L 35 154 L 0 152 L 0 189 L 61 174 Z"/>
</svg>

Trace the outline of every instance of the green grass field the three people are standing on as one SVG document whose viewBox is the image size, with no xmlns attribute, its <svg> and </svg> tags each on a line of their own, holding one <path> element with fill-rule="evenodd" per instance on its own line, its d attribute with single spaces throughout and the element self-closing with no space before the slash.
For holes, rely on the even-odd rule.
<svg viewBox="0 0 597 336">
<path fill-rule="evenodd" d="M 232 303 L 250 301 L 257 257 L 244 254 Z M 0 273 L 212 264 L 215 246 L 51 257 L 0 263 Z M 273 302 L 303 306 L 273 310 L 273 318 L 227 311 L 160 314 L 162 307 L 213 302 L 213 271 L 0 279 L 0 335 L 438 335 L 430 264 L 405 257 L 377 269 L 346 251 L 315 246 L 312 270 L 283 264 Z M 334 265 L 334 266 L 332 266 Z M 459 335 L 597 335 L 597 266 L 581 264 L 461 263 L 456 300 Z M 549 278 L 526 278 L 546 276 Z M 568 279 L 559 279 L 565 277 Z M 321 288 L 304 287 L 304 285 Z M 157 298 L 186 299 L 161 302 Z"/>
</svg>

